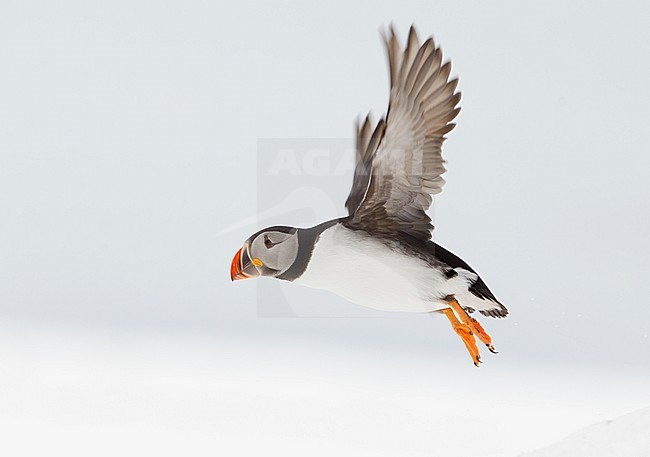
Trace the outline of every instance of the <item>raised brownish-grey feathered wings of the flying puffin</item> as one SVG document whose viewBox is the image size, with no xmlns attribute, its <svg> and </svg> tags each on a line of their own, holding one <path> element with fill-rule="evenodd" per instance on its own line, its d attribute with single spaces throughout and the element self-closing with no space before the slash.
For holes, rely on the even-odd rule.
<svg viewBox="0 0 650 457">
<path fill-rule="evenodd" d="M 346 224 L 370 233 L 408 233 L 431 238 L 426 210 L 442 190 L 442 143 L 455 124 L 460 93 L 449 80 L 451 63 L 433 39 L 422 46 L 411 27 L 402 51 L 392 27 L 386 41 L 390 65 L 387 119 L 370 134 L 370 121 L 357 126 L 357 166 L 346 207 Z"/>
</svg>

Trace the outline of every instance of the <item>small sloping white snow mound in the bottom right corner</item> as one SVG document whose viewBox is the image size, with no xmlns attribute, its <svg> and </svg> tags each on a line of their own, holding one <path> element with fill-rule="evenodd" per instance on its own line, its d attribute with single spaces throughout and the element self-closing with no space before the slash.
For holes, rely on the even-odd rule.
<svg viewBox="0 0 650 457">
<path fill-rule="evenodd" d="M 522 457 L 648 457 L 650 408 L 599 422 Z"/>
</svg>

